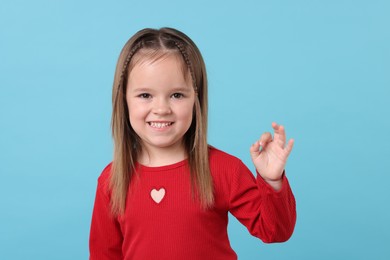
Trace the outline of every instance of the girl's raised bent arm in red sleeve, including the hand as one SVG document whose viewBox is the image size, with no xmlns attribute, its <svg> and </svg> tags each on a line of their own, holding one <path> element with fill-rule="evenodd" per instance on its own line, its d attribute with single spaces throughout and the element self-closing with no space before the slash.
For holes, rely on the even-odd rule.
<svg viewBox="0 0 390 260">
<path fill-rule="evenodd" d="M 295 198 L 284 173 L 294 141 L 286 144 L 284 127 L 276 123 L 272 127 L 273 138 L 264 133 L 250 148 L 257 179 L 239 166 L 230 197 L 230 212 L 266 243 L 288 240 L 296 222 Z"/>
</svg>

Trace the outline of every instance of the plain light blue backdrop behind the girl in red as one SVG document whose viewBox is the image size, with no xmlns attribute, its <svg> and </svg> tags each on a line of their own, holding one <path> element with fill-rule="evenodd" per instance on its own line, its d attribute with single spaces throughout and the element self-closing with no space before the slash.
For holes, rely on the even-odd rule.
<svg viewBox="0 0 390 260">
<path fill-rule="evenodd" d="M 252 169 L 272 121 L 296 141 L 295 233 L 266 245 L 232 218 L 239 259 L 390 259 L 389 14 L 385 0 L 2 0 L 0 259 L 87 259 L 116 60 L 162 26 L 204 55 L 211 144 Z"/>
</svg>

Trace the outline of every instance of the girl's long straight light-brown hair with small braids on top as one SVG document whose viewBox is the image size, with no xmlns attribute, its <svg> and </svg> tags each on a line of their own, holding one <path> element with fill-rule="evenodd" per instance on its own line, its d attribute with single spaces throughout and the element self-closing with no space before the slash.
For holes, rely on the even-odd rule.
<svg viewBox="0 0 390 260">
<path fill-rule="evenodd" d="M 190 73 L 196 98 L 192 123 L 184 135 L 184 144 L 188 153 L 192 194 L 202 208 L 209 208 L 213 205 L 214 196 L 207 145 L 207 75 L 202 55 L 195 43 L 176 29 L 147 28 L 138 31 L 127 41 L 115 70 L 111 121 L 114 158 L 109 182 L 112 213 L 115 216 L 124 213 L 127 192 L 142 149 L 141 140 L 130 125 L 126 102 L 127 79 L 135 65 L 133 57 L 142 55 L 140 50 L 162 55 L 177 54 L 182 57 L 183 71 L 187 75 Z"/>
</svg>

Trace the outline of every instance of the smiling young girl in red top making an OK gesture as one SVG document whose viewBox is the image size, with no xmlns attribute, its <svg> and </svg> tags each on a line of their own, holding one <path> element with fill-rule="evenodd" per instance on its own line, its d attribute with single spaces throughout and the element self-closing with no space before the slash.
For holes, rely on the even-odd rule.
<svg viewBox="0 0 390 260">
<path fill-rule="evenodd" d="M 116 67 L 114 158 L 98 179 L 90 259 L 237 259 L 228 212 L 265 243 L 289 239 L 293 140 L 272 127 L 250 148 L 255 179 L 207 144 L 206 69 L 192 40 L 171 28 L 136 33 Z"/>
</svg>

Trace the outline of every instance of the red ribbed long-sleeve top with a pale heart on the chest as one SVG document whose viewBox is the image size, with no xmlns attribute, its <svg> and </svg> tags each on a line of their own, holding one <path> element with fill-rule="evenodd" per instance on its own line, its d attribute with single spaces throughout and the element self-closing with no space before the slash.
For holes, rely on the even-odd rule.
<svg viewBox="0 0 390 260">
<path fill-rule="evenodd" d="M 295 199 L 287 178 L 274 191 L 236 157 L 210 148 L 215 205 L 192 199 L 187 160 L 161 167 L 137 165 L 125 213 L 110 213 L 111 164 L 98 179 L 90 259 L 237 259 L 230 246 L 228 212 L 265 243 L 283 242 L 295 226 Z"/>
</svg>

